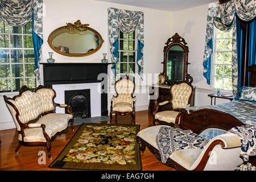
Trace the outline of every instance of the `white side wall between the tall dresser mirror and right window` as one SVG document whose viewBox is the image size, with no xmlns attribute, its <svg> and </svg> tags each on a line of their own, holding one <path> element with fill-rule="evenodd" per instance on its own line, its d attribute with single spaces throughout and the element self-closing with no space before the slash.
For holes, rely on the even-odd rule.
<svg viewBox="0 0 256 182">
<path fill-rule="evenodd" d="M 215 2 L 216 5 L 218 2 Z M 197 6 L 190 9 L 174 11 L 171 14 L 171 35 L 176 32 L 185 39 L 189 48 L 188 74 L 193 77 L 192 85 L 196 86 L 195 105 L 210 105 L 209 93 L 216 93 L 211 89 L 203 76 L 203 56 L 205 46 L 205 31 L 207 26 L 208 6 Z M 229 102 L 217 98 L 216 104 Z"/>
</svg>

